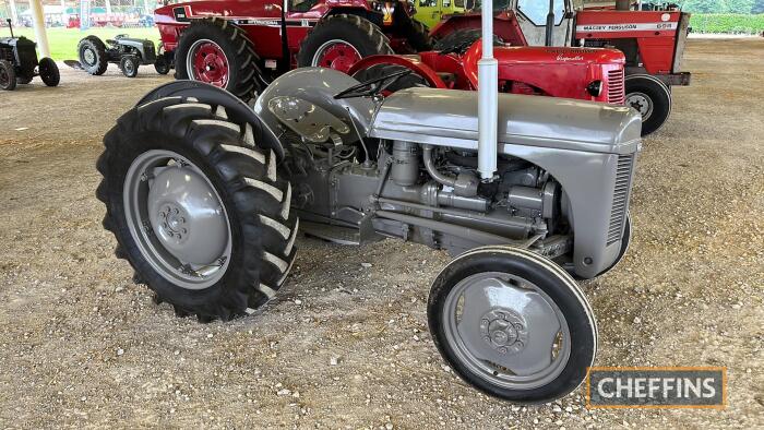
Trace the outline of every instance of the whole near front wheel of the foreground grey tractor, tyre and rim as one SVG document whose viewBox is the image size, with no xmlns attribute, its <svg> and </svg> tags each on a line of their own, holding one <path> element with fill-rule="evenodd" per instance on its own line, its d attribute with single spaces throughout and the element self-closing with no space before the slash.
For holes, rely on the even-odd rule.
<svg viewBox="0 0 764 430">
<path fill-rule="evenodd" d="M 516 403 L 546 403 L 575 390 L 597 350 L 583 291 L 553 262 L 512 247 L 485 247 L 438 275 L 430 333 L 467 383 Z"/>
</svg>

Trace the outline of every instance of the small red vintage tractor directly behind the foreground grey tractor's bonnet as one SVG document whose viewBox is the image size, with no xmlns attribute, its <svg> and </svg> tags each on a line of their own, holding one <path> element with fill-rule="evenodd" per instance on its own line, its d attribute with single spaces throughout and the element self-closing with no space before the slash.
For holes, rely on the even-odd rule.
<svg viewBox="0 0 764 430">
<path fill-rule="evenodd" d="M 413 73 L 390 91 L 409 86 L 476 91 L 482 55 L 479 37 L 479 31 L 458 31 L 439 41 L 435 50 L 367 57 L 348 73 L 362 82 L 408 69 Z M 499 61 L 501 93 L 624 104 L 625 58 L 619 50 L 499 45 L 493 57 Z"/>
</svg>

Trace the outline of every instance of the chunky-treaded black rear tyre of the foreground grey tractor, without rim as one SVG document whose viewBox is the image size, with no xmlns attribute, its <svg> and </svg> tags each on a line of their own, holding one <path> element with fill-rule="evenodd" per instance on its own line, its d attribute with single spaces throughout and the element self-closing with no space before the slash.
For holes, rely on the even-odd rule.
<svg viewBox="0 0 764 430">
<path fill-rule="evenodd" d="M 96 196 L 106 204 L 104 227 L 117 238 L 115 254 L 156 292 L 157 303 L 172 304 L 178 315 L 195 314 L 207 322 L 252 313 L 276 294 L 291 268 L 298 231 L 290 211 L 291 186 L 277 172 L 276 155 L 260 148 L 255 135 L 252 124 L 234 122 L 220 106 L 166 97 L 131 109 L 104 138 Z M 155 150 L 193 163 L 219 196 L 229 225 L 230 256 L 213 285 L 189 289 L 168 280 L 151 263 L 157 253 L 145 255 L 142 236 L 136 239 L 131 232 L 134 224 L 124 203 L 128 172 L 138 157 Z"/>
</svg>

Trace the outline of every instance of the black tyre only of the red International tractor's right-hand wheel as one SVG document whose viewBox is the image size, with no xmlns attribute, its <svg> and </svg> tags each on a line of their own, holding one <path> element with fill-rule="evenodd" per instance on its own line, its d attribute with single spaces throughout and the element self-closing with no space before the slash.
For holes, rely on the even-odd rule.
<svg viewBox="0 0 764 430">
<path fill-rule="evenodd" d="M 371 21 L 358 15 L 345 13 L 332 15 L 319 21 L 308 33 L 300 50 L 297 52 L 297 67 L 306 68 L 318 64 L 319 49 L 331 40 L 343 40 L 351 45 L 361 58 L 380 53 L 393 53 L 390 39 Z"/>
</svg>

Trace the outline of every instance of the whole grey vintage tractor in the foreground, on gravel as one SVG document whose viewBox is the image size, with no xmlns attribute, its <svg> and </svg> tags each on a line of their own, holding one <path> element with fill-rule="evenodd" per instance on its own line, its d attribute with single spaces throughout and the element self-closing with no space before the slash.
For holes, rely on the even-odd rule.
<svg viewBox="0 0 764 430">
<path fill-rule="evenodd" d="M 428 300 L 452 369 L 508 401 L 570 393 L 597 347 L 574 277 L 623 256 L 640 150 L 633 109 L 499 95 L 498 163 L 480 180 L 477 92 L 381 92 L 330 69 L 276 79 L 253 108 L 172 82 L 105 136 L 97 196 L 117 255 L 180 315 L 252 313 L 284 285 L 298 230 L 456 255 Z M 342 264 L 334 262 L 332 264 Z"/>
</svg>

